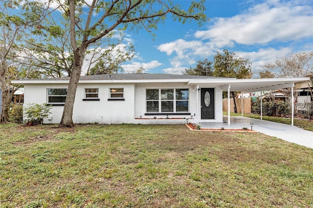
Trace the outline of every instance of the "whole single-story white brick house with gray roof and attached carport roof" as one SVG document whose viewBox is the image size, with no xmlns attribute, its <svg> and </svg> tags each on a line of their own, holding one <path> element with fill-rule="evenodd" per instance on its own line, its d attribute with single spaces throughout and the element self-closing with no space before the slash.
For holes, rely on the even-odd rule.
<svg viewBox="0 0 313 208">
<path fill-rule="evenodd" d="M 186 119 L 196 124 L 223 122 L 223 91 L 229 95 L 230 91 L 278 89 L 308 79 L 237 80 L 170 74 L 82 76 L 72 118 L 74 123 L 104 124 L 183 124 Z M 51 115 L 44 120 L 46 124 L 61 121 L 68 82 L 69 77 L 12 81 L 24 84 L 24 106 L 53 105 Z"/>
</svg>

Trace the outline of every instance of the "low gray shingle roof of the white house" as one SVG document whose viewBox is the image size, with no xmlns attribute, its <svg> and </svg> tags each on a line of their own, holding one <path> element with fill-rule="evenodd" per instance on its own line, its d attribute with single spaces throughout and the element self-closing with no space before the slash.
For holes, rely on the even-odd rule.
<svg viewBox="0 0 313 208">
<path fill-rule="evenodd" d="M 179 79 L 225 79 L 224 77 L 206 77 L 197 75 L 178 75 L 178 74 L 99 74 L 81 76 L 80 80 L 179 80 Z M 69 77 L 45 78 L 38 80 L 69 80 Z"/>
</svg>

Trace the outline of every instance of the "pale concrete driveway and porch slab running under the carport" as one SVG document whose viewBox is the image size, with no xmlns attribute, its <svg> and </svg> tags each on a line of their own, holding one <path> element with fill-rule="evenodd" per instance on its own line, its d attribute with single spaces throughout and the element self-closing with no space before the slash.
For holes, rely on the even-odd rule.
<svg viewBox="0 0 313 208">
<path fill-rule="evenodd" d="M 224 117 L 224 121 L 227 121 L 227 116 Z M 250 124 L 253 124 L 252 129 L 260 133 L 267 134 L 269 136 L 283 139 L 287 142 L 295 143 L 302 146 L 313 148 L 313 131 L 303 130 L 302 128 L 280 124 L 276 122 L 270 122 L 259 119 L 252 119 L 241 116 L 231 116 L 230 125 L 227 123 L 199 123 L 201 128 L 216 128 L 220 129 L 242 129 L 244 126 L 251 129 Z"/>
</svg>

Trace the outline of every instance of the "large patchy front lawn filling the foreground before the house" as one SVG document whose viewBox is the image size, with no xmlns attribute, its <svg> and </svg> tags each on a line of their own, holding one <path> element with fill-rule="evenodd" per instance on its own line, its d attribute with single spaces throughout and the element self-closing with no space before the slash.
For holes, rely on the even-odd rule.
<svg viewBox="0 0 313 208">
<path fill-rule="evenodd" d="M 0 207 L 313 207 L 313 149 L 184 125 L 0 125 Z"/>
</svg>

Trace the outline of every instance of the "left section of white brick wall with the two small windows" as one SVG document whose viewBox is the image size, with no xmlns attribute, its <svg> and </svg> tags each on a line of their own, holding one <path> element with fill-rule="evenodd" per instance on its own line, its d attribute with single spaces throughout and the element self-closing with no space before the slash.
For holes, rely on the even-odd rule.
<svg viewBox="0 0 313 208">
<path fill-rule="evenodd" d="M 46 103 L 47 88 L 67 88 L 66 84 L 26 84 L 24 106 Z M 83 101 L 85 88 L 99 88 L 100 101 Z M 108 101 L 109 88 L 124 88 L 125 101 Z M 64 106 L 53 106 L 45 123 L 61 121 Z M 79 84 L 73 108 L 74 123 L 134 123 L 134 84 Z"/>
</svg>

